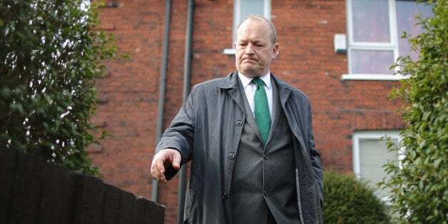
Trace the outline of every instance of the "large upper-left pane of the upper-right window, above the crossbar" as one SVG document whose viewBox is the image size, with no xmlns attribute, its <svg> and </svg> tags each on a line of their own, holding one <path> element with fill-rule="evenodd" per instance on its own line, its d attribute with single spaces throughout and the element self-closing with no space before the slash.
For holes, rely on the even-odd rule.
<svg viewBox="0 0 448 224">
<path fill-rule="evenodd" d="M 352 1 L 353 40 L 390 42 L 387 0 Z"/>
</svg>

